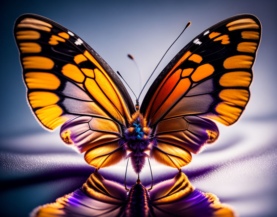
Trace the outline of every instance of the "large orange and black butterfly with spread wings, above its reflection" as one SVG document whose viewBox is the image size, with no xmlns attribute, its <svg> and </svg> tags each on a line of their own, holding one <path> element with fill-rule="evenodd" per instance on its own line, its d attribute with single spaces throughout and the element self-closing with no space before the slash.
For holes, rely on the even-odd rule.
<svg viewBox="0 0 277 217">
<path fill-rule="evenodd" d="M 248 103 L 261 23 L 241 14 L 203 31 L 134 105 L 109 65 L 75 33 L 50 19 L 23 14 L 15 22 L 27 100 L 48 130 L 96 169 L 146 158 L 181 170 L 219 136 L 218 121 L 235 123 Z"/>
</svg>

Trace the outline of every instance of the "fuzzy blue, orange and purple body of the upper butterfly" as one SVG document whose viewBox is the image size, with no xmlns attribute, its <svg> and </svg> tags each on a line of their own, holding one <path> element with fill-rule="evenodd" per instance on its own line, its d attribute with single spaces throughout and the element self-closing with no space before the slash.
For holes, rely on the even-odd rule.
<svg viewBox="0 0 277 217">
<path fill-rule="evenodd" d="M 146 120 L 139 111 L 133 114 L 120 143 L 123 143 L 126 150 L 131 152 L 127 158 L 131 158 L 133 169 L 139 173 L 143 168 L 145 158 L 150 157 L 147 152 L 157 143 L 153 138 L 152 129 L 147 126 Z"/>
</svg>

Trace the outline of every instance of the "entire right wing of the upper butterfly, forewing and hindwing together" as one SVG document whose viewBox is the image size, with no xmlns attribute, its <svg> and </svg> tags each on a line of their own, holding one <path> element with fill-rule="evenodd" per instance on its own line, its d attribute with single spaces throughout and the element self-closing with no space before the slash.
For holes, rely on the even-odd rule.
<svg viewBox="0 0 277 217">
<path fill-rule="evenodd" d="M 140 108 L 156 130 L 157 161 L 185 166 L 190 152 L 218 137 L 209 119 L 238 120 L 249 100 L 261 30 L 254 15 L 228 18 L 193 39 L 160 73 Z"/>
</svg>

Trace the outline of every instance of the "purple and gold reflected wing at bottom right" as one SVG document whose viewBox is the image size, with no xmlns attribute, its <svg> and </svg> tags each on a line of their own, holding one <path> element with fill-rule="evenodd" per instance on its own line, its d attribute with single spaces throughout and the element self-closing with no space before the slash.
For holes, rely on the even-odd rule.
<svg viewBox="0 0 277 217">
<path fill-rule="evenodd" d="M 149 195 L 152 216 L 235 216 L 232 209 L 220 203 L 214 194 L 195 190 L 184 173 L 155 185 Z"/>
</svg>

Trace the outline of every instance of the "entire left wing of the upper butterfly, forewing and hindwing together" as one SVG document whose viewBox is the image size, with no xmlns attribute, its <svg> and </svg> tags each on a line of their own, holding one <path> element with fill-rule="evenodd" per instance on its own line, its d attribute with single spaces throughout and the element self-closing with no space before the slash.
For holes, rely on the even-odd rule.
<svg viewBox="0 0 277 217">
<path fill-rule="evenodd" d="M 39 15 L 21 15 L 14 36 L 37 120 L 49 130 L 67 121 L 62 140 L 79 152 L 90 150 L 92 166 L 118 162 L 124 151 L 116 141 L 135 108 L 109 65 L 77 35 Z"/>
</svg>

